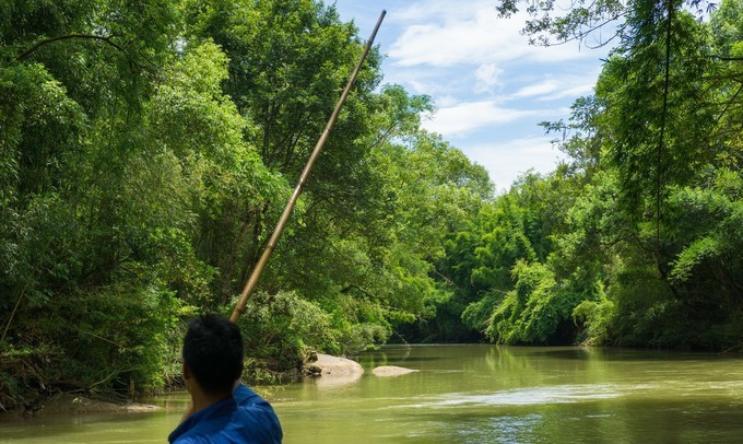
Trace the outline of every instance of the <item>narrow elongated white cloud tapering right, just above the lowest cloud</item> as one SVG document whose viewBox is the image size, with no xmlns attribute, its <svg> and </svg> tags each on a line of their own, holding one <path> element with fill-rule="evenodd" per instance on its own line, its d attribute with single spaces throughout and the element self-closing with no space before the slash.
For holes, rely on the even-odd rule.
<svg viewBox="0 0 743 444">
<path fill-rule="evenodd" d="M 439 108 L 423 127 L 443 136 L 461 136 L 483 127 L 543 114 L 543 110 L 503 108 L 495 101 L 465 102 Z"/>
</svg>

